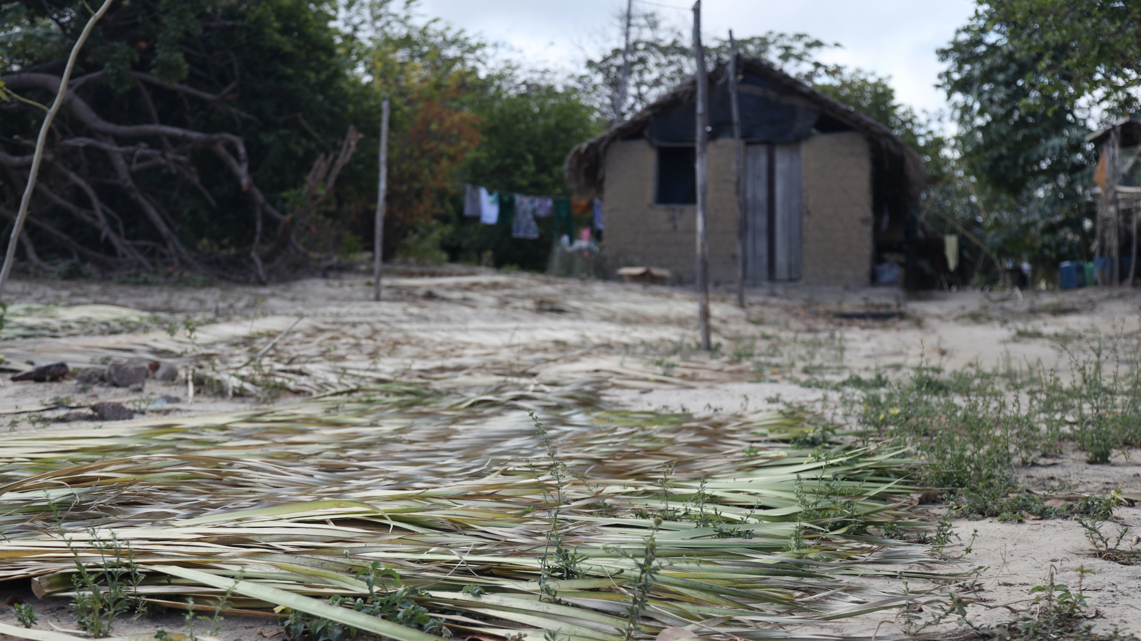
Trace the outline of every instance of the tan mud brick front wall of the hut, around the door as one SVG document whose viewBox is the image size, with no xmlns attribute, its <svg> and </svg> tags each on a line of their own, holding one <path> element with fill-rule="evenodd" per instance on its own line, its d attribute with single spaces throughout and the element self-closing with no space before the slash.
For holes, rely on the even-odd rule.
<svg viewBox="0 0 1141 641">
<path fill-rule="evenodd" d="M 863 285 L 872 267 L 872 167 L 867 143 L 855 132 L 812 136 L 803 144 L 803 257 L 808 284 Z M 710 283 L 737 274 L 737 206 L 733 140 L 710 143 Z M 607 148 L 608 268 L 664 267 L 682 283 L 695 279 L 696 208 L 655 205 L 656 153 L 645 139 Z"/>
</svg>

